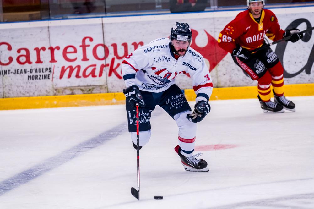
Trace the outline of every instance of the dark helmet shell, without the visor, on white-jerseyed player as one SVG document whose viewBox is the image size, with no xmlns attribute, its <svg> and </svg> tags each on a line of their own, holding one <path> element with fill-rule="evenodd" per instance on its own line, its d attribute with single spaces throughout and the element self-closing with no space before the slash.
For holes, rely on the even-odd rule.
<svg viewBox="0 0 314 209">
<path fill-rule="evenodd" d="M 170 32 L 170 39 L 176 39 L 178 41 L 189 41 L 192 40 L 192 31 L 189 24 L 176 22 L 173 24 Z"/>
</svg>

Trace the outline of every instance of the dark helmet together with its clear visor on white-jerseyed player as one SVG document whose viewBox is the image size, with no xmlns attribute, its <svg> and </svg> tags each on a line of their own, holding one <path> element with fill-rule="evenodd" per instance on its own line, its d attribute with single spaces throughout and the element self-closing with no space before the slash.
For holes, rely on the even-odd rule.
<svg viewBox="0 0 314 209">
<path fill-rule="evenodd" d="M 189 47 L 192 42 L 192 31 L 189 24 L 176 22 L 170 32 L 170 42 L 176 47 Z"/>
</svg>

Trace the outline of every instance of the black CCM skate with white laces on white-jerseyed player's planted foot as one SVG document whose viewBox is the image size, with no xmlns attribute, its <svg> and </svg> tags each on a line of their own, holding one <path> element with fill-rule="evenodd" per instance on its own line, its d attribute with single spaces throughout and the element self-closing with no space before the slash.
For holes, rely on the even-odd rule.
<svg viewBox="0 0 314 209">
<path fill-rule="evenodd" d="M 209 169 L 207 168 L 207 162 L 203 159 L 197 159 L 196 157 L 201 156 L 202 153 L 198 153 L 191 157 L 186 157 L 181 154 L 181 147 L 177 145 L 175 147 L 176 153 L 181 158 L 181 164 L 184 166 L 186 171 L 196 171 L 196 172 L 208 172 Z"/>
</svg>

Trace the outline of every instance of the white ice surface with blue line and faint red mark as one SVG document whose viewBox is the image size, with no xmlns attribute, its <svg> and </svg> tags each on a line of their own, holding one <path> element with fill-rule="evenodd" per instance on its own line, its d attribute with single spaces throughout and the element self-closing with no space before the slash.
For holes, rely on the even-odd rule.
<svg viewBox="0 0 314 209">
<path fill-rule="evenodd" d="M 140 201 L 124 105 L 0 111 L 0 208 L 313 209 L 314 96 L 289 99 L 294 113 L 211 101 L 194 152 L 205 173 L 184 170 L 176 123 L 157 107 L 140 150 Z"/>
</svg>

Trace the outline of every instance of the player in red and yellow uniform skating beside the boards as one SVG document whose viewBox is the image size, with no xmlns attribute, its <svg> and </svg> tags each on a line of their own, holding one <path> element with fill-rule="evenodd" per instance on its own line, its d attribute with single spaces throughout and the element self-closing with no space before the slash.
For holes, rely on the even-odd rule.
<svg viewBox="0 0 314 209">
<path fill-rule="evenodd" d="M 252 80 L 257 80 L 258 99 L 264 112 L 295 111 L 295 104 L 284 96 L 284 69 L 270 47 L 256 53 L 250 51 L 265 44 L 266 35 L 273 41 L 291 36 L 296 42 L 303 37 L 298 29 L 280 29 L 276 15 L 264 9 L 264 1 L 247 0 L 247 10 L 239 13 L 219 34 L 218 45 L 231 53 L 234 62 Z M 270 100 L 273 86 L 275 102 Z"/>
</svg>

